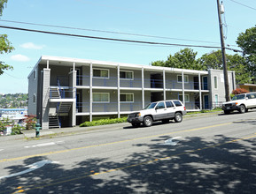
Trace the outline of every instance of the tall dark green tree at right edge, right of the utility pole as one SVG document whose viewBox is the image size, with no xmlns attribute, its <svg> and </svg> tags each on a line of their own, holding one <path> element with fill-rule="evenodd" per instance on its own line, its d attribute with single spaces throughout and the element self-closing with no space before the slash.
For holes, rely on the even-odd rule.
<svg viewBox="0 0 256 194">
<path fill-rule="evenodd" d="M 237 45 L 242 48 L 247 63 L 247 71 L 252 74 L 252 80 L 256 82 L 256 26 L 246 29 L 237 37 Z"/>
</svg>

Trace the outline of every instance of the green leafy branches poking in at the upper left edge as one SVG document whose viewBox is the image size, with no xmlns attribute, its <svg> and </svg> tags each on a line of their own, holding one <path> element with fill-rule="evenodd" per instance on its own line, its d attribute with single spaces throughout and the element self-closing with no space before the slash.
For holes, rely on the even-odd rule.
<svg viewBox="0 0 256 194">
<path fill-rule="evenodd" d="M 0 0 L 0 16 L 2 16 L 4 5 L 7 4 L 7 0 Z M 0 55 L 4 53 L 12 52 L 14 48 L 12 47 L 12 43 L 8 41 L 6 34 L 0 34 Z M 13 67 L 9 64 L 6 64 L 0 61 L 0 75 L 4 73 L 6 70 L 12 70 Z"/>
</svg>

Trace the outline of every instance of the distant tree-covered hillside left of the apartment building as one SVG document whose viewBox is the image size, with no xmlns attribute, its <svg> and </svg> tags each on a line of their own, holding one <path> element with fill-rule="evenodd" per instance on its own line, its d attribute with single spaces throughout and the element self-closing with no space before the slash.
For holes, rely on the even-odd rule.
<svg viewBox="0 0 256 194">
<path fill-rule="evenodd" d="M 0 94 L 0 108 L 27 108 L 27 93 Z"/>
</svg>

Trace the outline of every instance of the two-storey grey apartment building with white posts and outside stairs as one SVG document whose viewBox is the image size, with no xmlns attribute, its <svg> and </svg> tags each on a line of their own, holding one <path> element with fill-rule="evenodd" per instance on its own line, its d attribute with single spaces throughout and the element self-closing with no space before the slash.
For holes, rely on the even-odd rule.
<svg viewBox="0 0 256 194">
<path fill-rule="evenodd" d="M 229 71 L 230 93 L 236 87 Z M 151 101 L 179 99 L 188 111 L 225 101 L 223 72 L 42 56 L 28 75 L 28 114 L 43 129 L 120 117 Z"/>
</svg>

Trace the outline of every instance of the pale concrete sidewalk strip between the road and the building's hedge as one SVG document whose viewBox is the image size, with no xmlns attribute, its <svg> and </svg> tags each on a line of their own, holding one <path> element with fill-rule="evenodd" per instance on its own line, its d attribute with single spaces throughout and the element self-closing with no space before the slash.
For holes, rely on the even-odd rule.
<svg viewBox="0 0 256 194">
<path fill-rule="evenodd" d="M 198 113 L 192 115 L 185 115 L 185 119 L 192 119 L 198 116 L 218 116 L 221 114 L 221 111 L 210 112 L 210 113 Z M 116 123 L 116 124 L 107 124 L 107 125 L 100 125 L 100 126 L 93 126 L 93 127 L 66 127 L 66 128 L 57 128 L 57 129 L 49 129 L 49 130 L 41 130 L 40 131 L 40 138 L 52 138 L 58 136 L 68 136 L 68 135 L 75 135 L 80 133 L 89 133 L 89 132 L 96 132 L 96 131 L 110 131 L 110 130 L 117 130 L 123 127 L 131 127 L 130 123 Z M 22 131 L 23 134 L 20 135 L 13 135 L 13 136 L 0 136 L 0 141 L 8 141 L 8 140 L 15 140 L 15 139 L 32 139 L 35 138 L 35 130 L 30 131 Z"/>
</svg>

